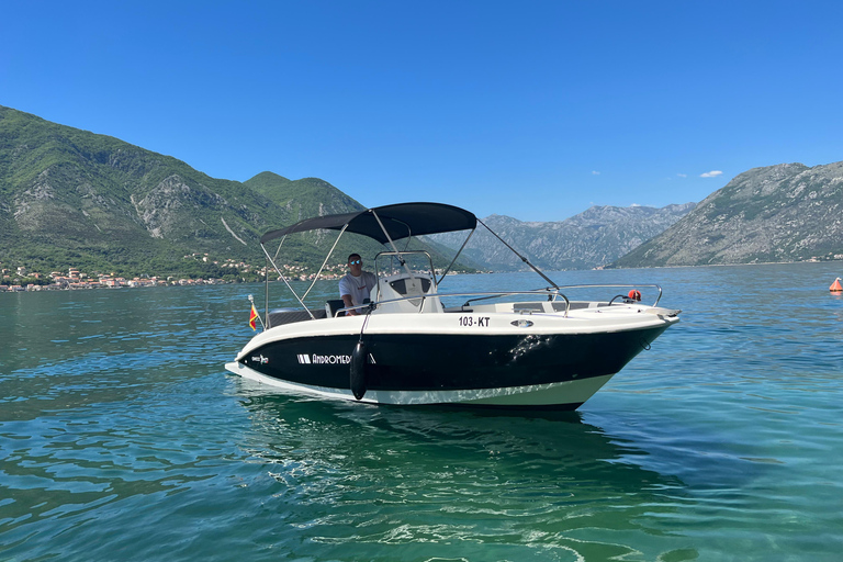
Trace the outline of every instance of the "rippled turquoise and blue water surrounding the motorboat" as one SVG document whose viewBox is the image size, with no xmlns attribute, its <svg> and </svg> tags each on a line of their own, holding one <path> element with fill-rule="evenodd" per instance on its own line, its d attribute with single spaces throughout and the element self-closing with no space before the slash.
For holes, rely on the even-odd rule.
<svg viewBox="0 0 843 562">
<path fill-rule="evenodd" d="M 683 322 L 536 416 L 266 394 L 260 285 L 0 295 L 0 560 L 839 560 L 842 268 L 554 273 Z"/>
</svg>

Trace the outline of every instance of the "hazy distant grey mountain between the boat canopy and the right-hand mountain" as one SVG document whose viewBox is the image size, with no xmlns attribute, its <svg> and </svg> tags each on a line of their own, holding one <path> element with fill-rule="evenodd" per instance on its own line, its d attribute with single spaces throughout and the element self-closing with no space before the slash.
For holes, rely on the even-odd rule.
<svg viewBox="0 0 843 562">
<path fill-rule="evenodd" d="M 592 269 L 610 263 L 664 232 L 694 206 L 694 203 L 661 209 L 593 206 L 561 222 L 529 223 L 503 215 L 492 215 L 483 222 L 542 269 Z M 459 248 L 464 236 L 447 234 L 432 238 Z M 487 269 L 512 271 L 525 268 L 521 260 L 482 226 L 472 236 L 465 252 L 473 262 Z"/>
</svg>

